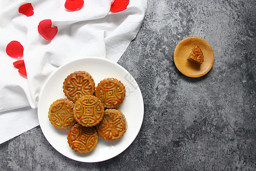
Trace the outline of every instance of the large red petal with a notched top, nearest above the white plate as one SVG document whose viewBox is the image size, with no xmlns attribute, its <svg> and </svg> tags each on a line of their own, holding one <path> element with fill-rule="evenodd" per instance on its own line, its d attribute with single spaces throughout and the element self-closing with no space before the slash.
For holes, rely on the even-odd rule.
<svg viewBox="0 0 256 171">
<path fill-rule="evenodd" d="M 51 27 L 51 20 L 45 19 L 39 23 L 38 32 L 46 40 L 52 40 L 58 32 L 58 27 L 57 26 Z"/>
</svg>

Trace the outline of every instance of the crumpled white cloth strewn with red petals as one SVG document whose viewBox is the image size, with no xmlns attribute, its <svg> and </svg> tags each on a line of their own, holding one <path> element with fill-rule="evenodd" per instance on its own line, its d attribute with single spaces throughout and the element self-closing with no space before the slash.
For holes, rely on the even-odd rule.
<svg viewBox="0 0 256 171">
<path fill-rule="evenodd" d="M 18 13 L 31 3 L 34 15 Z M 71 60 L 97 56 L 117 62 L 137 35 L 146 13 L 146 0 L 130 0 L 127 9 L 111 13 L 111 0 L 85 0 L 81 10 L 67 11 L 65 0 L 0 0 L 0 144 L 39 125 L 39 93 L 50 74 Z M 51 19 L 58 33 L 45 40 L 38 23 Z M 24 47 L 27 78 L 6 54 L 17 40 Z"/>
</svg>

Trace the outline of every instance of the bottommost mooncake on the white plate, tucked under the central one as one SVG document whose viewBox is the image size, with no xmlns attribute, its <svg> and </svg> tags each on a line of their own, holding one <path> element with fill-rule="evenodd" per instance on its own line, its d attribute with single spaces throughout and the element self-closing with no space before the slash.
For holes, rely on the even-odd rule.
<svg viewBox="0 0 256 171">
<path fill-rule="evenodd" d="M 91 152 L 98 143 L 98 132 L 95 127 L 83 127 L 75 124 L 67 133 L 67 143 L 78 153 Z"/>
</svg>

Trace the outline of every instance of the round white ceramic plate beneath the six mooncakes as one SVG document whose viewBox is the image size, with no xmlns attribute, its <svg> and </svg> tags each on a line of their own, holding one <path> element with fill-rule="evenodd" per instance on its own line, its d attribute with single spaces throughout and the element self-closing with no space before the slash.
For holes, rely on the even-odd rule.
<svg viewBox="0 0 256 171">
<path fill-rule="evenodd" d="M 67 143 L 68 129 L 57 129 L 48 119 L 51 103 L 57 99 L 65 98 L 63 82 L 67 75 L 74 71 L 87 71 L 93 76 L 95 86 L 105 78 L 121 80 L 126 88 L 126 97 L 119 106 L 127 120 L 127 131 L 119 140 L 106 141 L 99 137 L 95 149 L 90 153 L 79 154 L 74 152 Z M 42 88 L 38 101 L 38 119 L 47 141 L 61 154 L 76 161 L 99 162 L 109 160 L 122 153 L 131 143 L 141 129 L 144 114 L 144 105 L 141 90 L 133 76 L 122 66 L 103 58 L 83 58 L 59 67 L 47 79 Z"/>
</svg>

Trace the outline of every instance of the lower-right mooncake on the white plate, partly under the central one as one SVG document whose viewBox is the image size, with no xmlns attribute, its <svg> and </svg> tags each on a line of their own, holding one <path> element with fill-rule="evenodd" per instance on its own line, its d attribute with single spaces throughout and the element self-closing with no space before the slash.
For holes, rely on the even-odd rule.
<svg viewBox="0 0 256 171">
<path fill-rule="evenodd" d="M 120 139 L 126 132 L 127 121 L 118 109 L 106 109 L 103 120 L 96 128 L 103 139 L 113 141 Z"/>
</svg>

